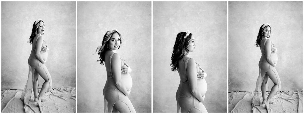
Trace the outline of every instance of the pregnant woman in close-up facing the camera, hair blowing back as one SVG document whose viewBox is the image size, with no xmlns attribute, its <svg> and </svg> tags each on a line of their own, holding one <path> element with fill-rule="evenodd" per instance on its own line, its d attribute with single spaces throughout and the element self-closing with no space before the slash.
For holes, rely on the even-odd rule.
<svg viewBox="0 0 304 114">
<path fill-rule="evenodd" d="M 117 29 L 109 30 L 98 46 L 100 64 L 105 64 L 107 81 L 103 88 L 105 112 L 136 112 L 128 95 L 132 88 L 131 68 L 116 53 L 120 48 L 121 35 Z"/>
</svg>

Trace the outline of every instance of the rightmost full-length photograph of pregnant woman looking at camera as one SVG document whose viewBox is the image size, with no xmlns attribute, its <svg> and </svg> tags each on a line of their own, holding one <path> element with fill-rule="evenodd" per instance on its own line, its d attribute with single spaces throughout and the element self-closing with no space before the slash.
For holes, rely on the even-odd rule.
<svg viewBox="0 0 304 114">
<path fill-rule="evenodd" d="M 229 112 L 302 113 L 302 2 L 229 2 Z"/>
</svg>

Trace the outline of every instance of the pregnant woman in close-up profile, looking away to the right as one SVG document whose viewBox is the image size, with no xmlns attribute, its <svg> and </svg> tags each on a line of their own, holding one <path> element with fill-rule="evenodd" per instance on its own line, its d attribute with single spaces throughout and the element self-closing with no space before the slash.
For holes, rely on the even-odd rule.
<svg viewBox="0 0 304 114">
<path fill-rule="evenodd" d="M 207 112 L 203 101 L 207 91 L 206 72 L 187 55 L 195 50 L 192 33 L 177 34 L 171 57 L 171 70 L 178 71 L 181 83 L 176 92 L 176 101 L 179 112 Z"/>
</svg>

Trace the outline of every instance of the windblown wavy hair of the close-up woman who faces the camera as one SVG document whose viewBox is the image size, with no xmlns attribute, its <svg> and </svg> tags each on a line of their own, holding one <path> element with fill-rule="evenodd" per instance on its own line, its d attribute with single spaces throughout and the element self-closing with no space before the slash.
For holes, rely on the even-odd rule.
<svg viewBox="0 0 304 114">
<path fill-rule="evenodd" d="M 107 51 L 107 50 L 110 50 L 109 48 L 108 48 L 108 43 L 109 43 L 109 40 L 110 40 L 110 38 L 112 37 L 112 35 L 114 34 L 114 33 L 117 33 L 118 35 L 119 35 L 119 37 L 120 37 L 120 44 L 122 44 L 122 38 L 121 38 L 121 35 L 120 35 L 120 33 L 118 33 L 117 31 L 114 31 L 113 33 L 111 33 L 111 34 L 109 34 L 109 36 L 107 36 L 107 33 L 108 33 L 109 31 L 107 31 L 106 33 L 105 33 L 105 35 L 103 36 L 103 40 L 102 40 L 102 43 L 101 43 L 101 46 L 98 46 L 97 47 L 97 49 L 96 49 L 96 51 L 95 51 L 95 53 L 97 52 L 97 50 L 98 50 L 98 55 L 100 56 L 99 57 L 99 60 L 97 60 L 97 62 L 99 62 L 101 65 L 104 65 L 105 63 L 104 63 L 104 61 L 105 61 L 105 52 Z M 120 48 L 120 45 L 119 45 L 119 47 L 118 47 L 118 49 Z"/>
</svg>

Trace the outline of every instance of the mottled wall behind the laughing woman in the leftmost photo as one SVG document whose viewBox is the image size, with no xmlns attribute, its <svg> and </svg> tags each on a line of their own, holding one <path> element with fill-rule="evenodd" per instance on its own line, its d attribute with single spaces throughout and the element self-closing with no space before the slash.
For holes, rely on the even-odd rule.
<svg viewBox="0 0 304 114">
<path fill-rule="evenodd" d="M 1 89 L 24 89 L 32 49 L 27 41 L 39 18 L 45 22 L 53 88 L 76 87 L 75 2 L 2 2 L 1 11 Z"/>
</svg>

